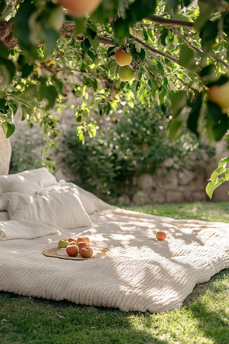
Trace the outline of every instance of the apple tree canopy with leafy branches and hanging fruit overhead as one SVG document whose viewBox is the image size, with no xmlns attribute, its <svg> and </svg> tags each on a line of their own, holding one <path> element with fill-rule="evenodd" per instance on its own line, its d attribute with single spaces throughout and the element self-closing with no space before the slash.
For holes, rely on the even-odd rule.
<svg viewBox="0 0 229 344">
<path fill-rule="evenodd" d="M 44 128 L 43 152 L 55 148 L 51 109 L 63 111 L 73 92 L 82 143 L 96 135 L 91 111 L 155 101 L 171 141 L 184 126 L 219 141 L 229 127 L 228 36 L 222 0 L 0 0 L 1 138 L 21 108 L 22 120 Z"/>
</svg>

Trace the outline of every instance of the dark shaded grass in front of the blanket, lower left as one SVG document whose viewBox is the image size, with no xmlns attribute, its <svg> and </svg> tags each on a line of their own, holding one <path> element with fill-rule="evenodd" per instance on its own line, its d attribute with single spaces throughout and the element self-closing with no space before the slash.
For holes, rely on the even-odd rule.
<svg viewBox="0 0 229 344">
<path fill-rule="evenodd" d="M 0 292 L 0 343 L 168 343 L 149 331 L 131 327 L 132 314 Z"/>
</svg>

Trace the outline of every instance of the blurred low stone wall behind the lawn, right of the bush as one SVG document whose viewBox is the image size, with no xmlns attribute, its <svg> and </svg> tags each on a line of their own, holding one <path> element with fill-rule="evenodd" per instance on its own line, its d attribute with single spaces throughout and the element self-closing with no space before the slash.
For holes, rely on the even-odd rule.
<svg viewBox="0 0 229 344">
<path fill-rule="evenodd" d="M 190 154 L 186 164 L 180 164 L 176 158 L 166 160 L 154 175 L 140 175 L 135 181 L 137 190 L 134 195 L 121 195 L 118 199 L 119 204 L 210 201 L 205 191 L 208 179 L 217 168 L 218 161 L 229 155 L 225 141 L 215 143 L 215 149 L 216 155 L 210 159 L 202 152 L 201 161 L 195 159 L 195 153 Z M 214 191 L 212 201 L 229 202 L 228 190 L 229 183 L 221 184 Z"/>
</svg>

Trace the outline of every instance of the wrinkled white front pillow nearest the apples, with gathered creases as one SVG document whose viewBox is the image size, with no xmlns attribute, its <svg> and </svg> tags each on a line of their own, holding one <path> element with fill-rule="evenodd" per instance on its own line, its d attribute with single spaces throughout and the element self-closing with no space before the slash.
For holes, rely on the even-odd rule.
<svg viewBox="0 0 229 344">
<path fill-rule="evenodd" d="M 38 195 L 10 192 L 3 198 L 11 220 L 52 223 L 64 229 L 92 224 L 79 197 L 65 186 L 55 191 L 41 191 Z"/>
</svg>

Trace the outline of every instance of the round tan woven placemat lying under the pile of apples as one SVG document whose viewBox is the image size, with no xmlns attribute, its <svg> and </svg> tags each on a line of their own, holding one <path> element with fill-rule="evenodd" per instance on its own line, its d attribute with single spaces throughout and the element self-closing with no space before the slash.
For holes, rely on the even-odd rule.
<svg viewBox="0 0 229 344">
<path fill-rule="evenodd" d="M 88 260 L 88 259 L 94 259 L 102 256 L 107 256 L 111 254 L 111 251 L 108 250 L 108 248 L 102 247 L 102 246 L 95 246 L 90 245 L 90 247 L 93 249 L 93 256 L 90 258 L 82 258 L 80 255 L 76 257 L 69 257 L 69 256 L 61 256 L 57 255 L 56 252 L 59 250 L 58 247 L 50 248 L 48 250 L 45 250 L 42 252 L 42 254 L 46 257 L 55 257 L 60 259 L 71 259 L 71 260 Z"/>
</svg>

